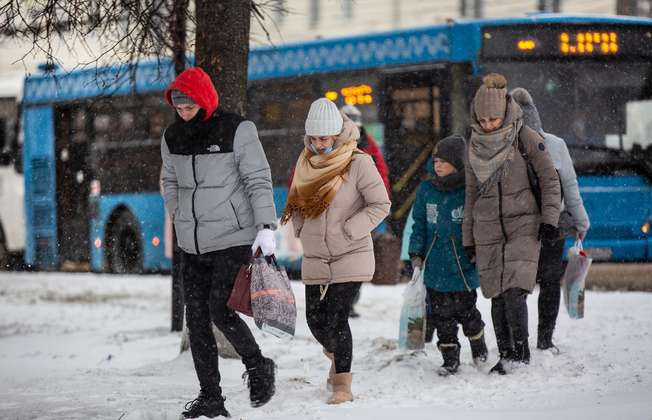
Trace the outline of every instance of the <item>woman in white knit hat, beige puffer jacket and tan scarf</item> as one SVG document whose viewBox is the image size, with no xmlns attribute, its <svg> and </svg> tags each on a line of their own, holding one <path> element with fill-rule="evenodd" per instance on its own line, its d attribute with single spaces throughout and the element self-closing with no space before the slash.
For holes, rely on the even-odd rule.
<svg viewBox="0 0 652 420">
<path fill-rule="evenodd" d="M 292 221 L 303 245 L 306 320 L 331 360 L 329 404 L 352 401 L 353 338 L 349 313 L 363 281 L 374 275 L 371 231 L 391 203 L 360 133 L 327 98 L 310 105 L 305 148 L 297 160 L 280 223 Z"/>
</svg>

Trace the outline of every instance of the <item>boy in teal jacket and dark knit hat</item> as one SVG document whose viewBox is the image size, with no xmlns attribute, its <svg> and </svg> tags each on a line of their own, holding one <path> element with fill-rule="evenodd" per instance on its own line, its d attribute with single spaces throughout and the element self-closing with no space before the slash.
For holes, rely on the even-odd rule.
<svg viewBox="0 0 652 420">
<path fill-rule="evenodd" d="M 471 343 L 473 362 L 487 357 L 484 322 L 475 306 L 478 274 L 462 246 L 465 152 L 461 135 L 437 143 L 426 167 L 430 179 L 419 185 L 412 207 L 414 225 L 408 252 L 413 267 L 421 267 L 428 255 L 421 270 L 437 328 L 437 347 L 444 360 L 437 371 L 441 376 L 455 373 L 460 365 L 458 323 Z"/>
</svg>

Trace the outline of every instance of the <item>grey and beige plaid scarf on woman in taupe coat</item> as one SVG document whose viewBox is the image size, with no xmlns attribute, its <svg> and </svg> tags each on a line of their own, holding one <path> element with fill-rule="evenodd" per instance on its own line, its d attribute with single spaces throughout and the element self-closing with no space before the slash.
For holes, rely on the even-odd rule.
<svg viewBox="0 0 652 420">
<path fill-rule="evenodd" d="M 471 132 L 469 161 L 478 178 L 480 195 L 484 195 L 498 182 L 501 176 L 509 175 L 509 161 L 514 160 L 514 146 L 523 120 L 518 119 L 493 133 Z M 478 130 L 478 131 L 476 131 Z"/>
</svg>

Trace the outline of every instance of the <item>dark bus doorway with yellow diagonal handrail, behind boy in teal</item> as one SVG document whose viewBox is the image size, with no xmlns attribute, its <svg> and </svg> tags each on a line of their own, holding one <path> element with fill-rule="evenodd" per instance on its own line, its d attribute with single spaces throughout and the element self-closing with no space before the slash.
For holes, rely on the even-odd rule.
<svg viewBox="0 0 652 420">
<path fill-rule="evenodd" d="M 385 154 L 392 199 L 390 227 L 401 236 L 426 163 L 441 138 L 445 81 L 440 68 L 411 72 L 387 70 L 381 77 L 380 117 L 385 124 Z"/>
</svg>

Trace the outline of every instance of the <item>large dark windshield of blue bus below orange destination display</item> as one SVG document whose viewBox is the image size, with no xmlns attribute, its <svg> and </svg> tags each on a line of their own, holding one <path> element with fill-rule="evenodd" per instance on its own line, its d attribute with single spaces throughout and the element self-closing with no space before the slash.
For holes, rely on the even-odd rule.
<svg viewBox="0 0 652 420">
<path fill-rule="evenodd" d="M 508 89 L 530 92 L 544 132 L 563 138 L 569 150 L 652 143 L 652 64 L 623 61 L 487 63 Z"/>
</svg>

